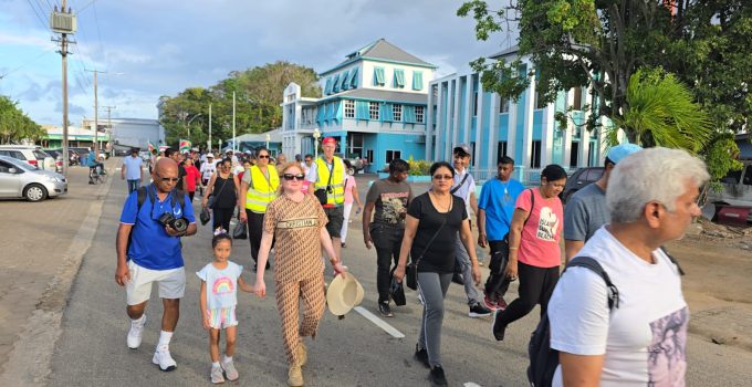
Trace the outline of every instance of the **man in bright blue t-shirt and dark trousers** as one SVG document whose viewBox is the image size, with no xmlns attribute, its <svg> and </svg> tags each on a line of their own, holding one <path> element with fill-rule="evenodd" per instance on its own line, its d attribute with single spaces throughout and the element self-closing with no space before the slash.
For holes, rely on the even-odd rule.
<svg viewBox="0 0 752 387">
<path fill-rule="evenodd" d="M 514 160 L 503 156 L 499 160 L 497 178 L 485 181 L 480 191 L 478 202 L 478 244 L 491 247 L 491 271 L 485 281 L 485 306 L 492 310 L 506 308 L 504 293 L 510 279 L 504 274 L 509 255 L 509 227 L 512 224 L 514 203 L 525 189 L 518 180 L 512 179 Z"/>
</svg>

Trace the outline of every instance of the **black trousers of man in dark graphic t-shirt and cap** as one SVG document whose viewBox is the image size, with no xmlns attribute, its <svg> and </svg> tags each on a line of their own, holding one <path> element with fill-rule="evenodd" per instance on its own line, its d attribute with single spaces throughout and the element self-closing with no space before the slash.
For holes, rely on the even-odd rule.
<svg viewBox="0 0 752 387">
<path fill-rule="evenodd" d="M 399 248 L 403 245 L 405 229 L 389 227 L 382 223 L 370 223 L 370 238 L 376 248 L 376 287 L 378 302 L 389 301 L 389 285 L 391 284 L 391 263 L 399 261 Z"/>
</svg>

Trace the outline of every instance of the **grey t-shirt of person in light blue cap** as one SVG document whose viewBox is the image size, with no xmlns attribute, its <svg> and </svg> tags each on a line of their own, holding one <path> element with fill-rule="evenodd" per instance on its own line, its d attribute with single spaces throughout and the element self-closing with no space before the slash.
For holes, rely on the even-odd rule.
<svg viewBox="0 0 752 387">
<path fill-rule="evenodd" d="M 606 192 L 595 182 L 575 192 L 564 208 L 564 239 L 587 242 L 600 226 L 608 223 Z"/>
</svg>

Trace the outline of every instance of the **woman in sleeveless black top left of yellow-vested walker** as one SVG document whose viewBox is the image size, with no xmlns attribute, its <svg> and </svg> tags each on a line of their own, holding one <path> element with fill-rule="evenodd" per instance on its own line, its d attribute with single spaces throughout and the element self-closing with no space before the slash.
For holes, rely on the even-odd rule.
<svg viewBox="0 0 752 387">
<path fill-rule="evenodd" d="M 232 160 L 226 158 L 218 166 L 215 175 L 209 180 L 207 187 L 207 195 L 201 200 L 201 207 L 209 205 L 209 195 L 213 195 L 215 203 L 210 208 L 213 212 L 213 228 L 222 228 L 224 231 L 230 230 L 230 219 L 238 206 L 238 177 L 232 174 Z"/>
</svg>

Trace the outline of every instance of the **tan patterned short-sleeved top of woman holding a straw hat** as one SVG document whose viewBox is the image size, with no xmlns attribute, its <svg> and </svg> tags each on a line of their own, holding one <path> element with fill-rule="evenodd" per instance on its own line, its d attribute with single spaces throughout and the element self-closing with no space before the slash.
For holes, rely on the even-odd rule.
<svg viewBox="0 0 752 387">
<path fill-rule="evenodd" d="M 280 195 L 267 207 L 263 230 L 273 233 L 274 281 L 297 282 L 324 274 L 321 228 L 327 218 L 313 195 L 295 202 Z"/>
</svg>

